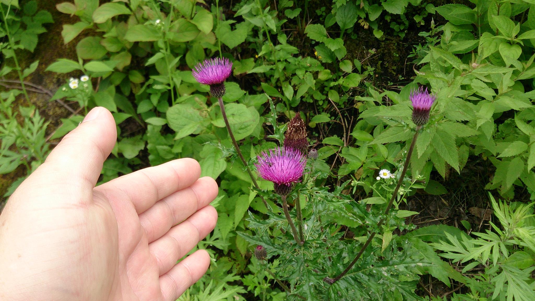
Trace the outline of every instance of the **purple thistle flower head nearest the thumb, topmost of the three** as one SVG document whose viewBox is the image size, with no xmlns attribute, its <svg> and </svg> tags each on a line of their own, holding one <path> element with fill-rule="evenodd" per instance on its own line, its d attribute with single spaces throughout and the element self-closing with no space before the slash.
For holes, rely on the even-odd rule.
<svg viewBox="0 0 535 301">
<path fill-rule="evenodd" d="M 232 62 L 228 58 L 209 58 L 198 63 L 192 71 L 200 84 L 210 86 L 210 94 L 215 97 L 225 95 L 225 80 L 231 75 Z"/>
</svg>

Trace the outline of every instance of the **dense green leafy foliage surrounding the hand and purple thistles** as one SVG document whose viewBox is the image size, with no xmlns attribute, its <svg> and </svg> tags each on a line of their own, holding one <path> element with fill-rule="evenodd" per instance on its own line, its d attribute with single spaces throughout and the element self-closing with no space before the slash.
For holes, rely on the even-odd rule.
<svg viewBox="0 0 535 301">
<path fill-rule="evenodd" d="M 518 194 L 535 199 L 535 2 L 229 5 L 74 0 L 56 6 L 71 16 L 61 35 L 65 44 L 76 43 L 77 57 L 47 66 L 49 74 L 65 74 L 50 100 L 75 102 L 83 112 L 102 106 L 116 120 L 118 141 L 101 183 L 180 157 L 197 159 L 202 176 L 219 181 L 212 202 L 218 224 L 198 245 L 209 250 L 211 268 L 179 300 L 535 299 L 533 208 L 511 201 Z M 33 106 L 15 108 L 16 97 L 29 102 L 24 79 L 39 64 L 22 69 L 17 55 L 33 51 L 53 20 L 37 1 L 19 7 L 2 0 L 0 7 L 0 77 L 21 84 L 0 94 L 0 174 L 23 164 L 29 174 L 44 161 L 49 141 L 83 116 L 62 119 L 45 137 L 47 122 Z M 348 50 L 362 32 L 385 42 L 417 29 L 422 43 L 407 58 L 414 73 L 399 88 L 377 86 L 375 67 Z M 374 51 L 366 48 L 370 56 Z M 293 240 L 273 184 L 259 178 L 259 189 L 252 187 L 217 101 L 192 76 L 197 63 L 215 56 L 234 65 L 223 101 L 249 167 L 282 144 L 290 118 L 301 114 L 307 121 L 310 148 L 319 156 L 308 160 L 307 174 L 288 196 L 292 207 L 302 208 L 303 246 Z M 82 75 L 89 80 L 68 80 Z M 418 86 L 437 96 L 421 130 L 411 121 L 409 101 Z M 400 178 L 417 131 L 410 168 Z M 495 166 L 483 184 L 507 201 L 490 194 L 494 222 L 470 234 L 451 225 L 416 229 L 406 220 L 418 214 L 406 210 L 408 200 L 417 190 L 445 194 L 449 188 L 436 179 L 460 174 L 470 158 Z M 395 177 L 378 179 L 380 169 Z M 394 207 L 384 214 L 391 198 Z M 291 214 L 296 220 L 295 209 Z M 465 230 L 481 227 L 461 223 Z M 324 281 L 339 275 L 369 237 L 347 274 L 334 284 Z M 265 259 L 252 256 L 257 245 L 265 247 Z M 423 275 L 452 289 L 430 297 L 419 284 Z"/>
</svg>

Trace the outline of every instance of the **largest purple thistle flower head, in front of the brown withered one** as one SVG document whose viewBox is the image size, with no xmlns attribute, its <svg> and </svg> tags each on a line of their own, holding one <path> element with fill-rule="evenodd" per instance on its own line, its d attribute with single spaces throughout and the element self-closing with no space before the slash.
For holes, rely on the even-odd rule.
<svg viewBox="0 0 535 301">
<path fill-rule="evenodd" d="M 292 191 L 291 184 L 299 182 L 307 159 L 294 148 L 278 147 L 270 149 L 269 154 L 262 152 L 255 164 L 258 174 L 274 184 L 274 190 L 280 195 Z"/>
</svg>

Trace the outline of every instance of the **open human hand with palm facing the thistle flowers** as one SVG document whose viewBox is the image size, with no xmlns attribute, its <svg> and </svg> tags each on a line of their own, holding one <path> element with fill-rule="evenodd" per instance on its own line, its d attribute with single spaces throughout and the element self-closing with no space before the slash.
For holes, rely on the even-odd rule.
<svg viewBox="0 0 535 301">
<path fill-rule="evenodd" d="M 95 108 L 13 193 L 0 215 L 0 300 L 177 299 L 206 272 L 216 182 L 193 159 L 95 187 L 117 138 Z M 176 264 L 176 265 L 175 265 Z"/>
</svg>

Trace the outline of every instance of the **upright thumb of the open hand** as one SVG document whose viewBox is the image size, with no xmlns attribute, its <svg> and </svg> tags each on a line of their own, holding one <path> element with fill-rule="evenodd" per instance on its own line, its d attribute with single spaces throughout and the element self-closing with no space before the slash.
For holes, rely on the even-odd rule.
<svg viewBox="0 0 535 301">
<path fill-rule="evenodd" d="M 35 173 L 52 186 L 92 190 L 116 140 L 117 129 L 110 111 L 96 107 L 59 142 Z"/>
</svg>

